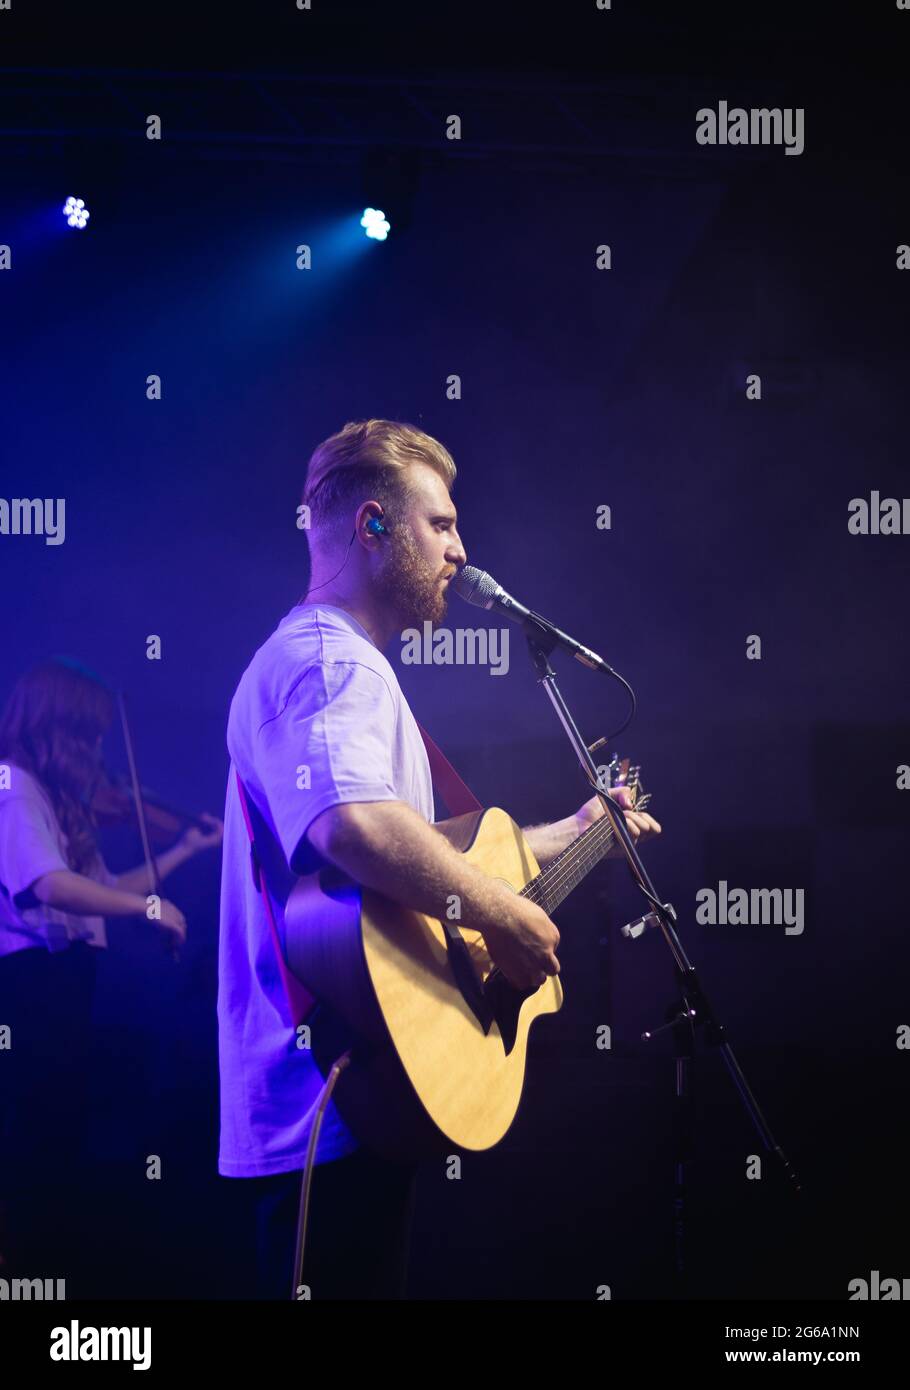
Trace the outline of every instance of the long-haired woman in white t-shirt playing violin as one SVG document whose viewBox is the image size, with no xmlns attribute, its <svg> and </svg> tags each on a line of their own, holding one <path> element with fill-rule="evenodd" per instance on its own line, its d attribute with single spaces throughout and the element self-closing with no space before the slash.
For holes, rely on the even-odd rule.
<svg viewBox="0 0 910 1390">
<path fill-rule="evenodd" d="M 97 951 L 106 917 L 150 922 L 172 949 L 182 912 L 157 892 L 151 866 L 110 872 L 96 842 L 93 796 L 111 692 L 75 663 L 44 662 L 22 676 L 0 717 L 0 1276 L 10 1261 L 65 1276 L 56 1257 L 50 1194 L 78 1156 Z M 157 856 L 157 877 L 217 845 L 221 821 L 200 817 Z M 158 916 L 160 913 L 160 916 Z M 6 1031 L 4 1031 L 6 1029 Z M 6 1038 L 6 1044 L 3 1041 Z M 4 1234 L 4 1198 L 19 1219 Z M 7 1211 L 10 1216 L 10 1211 Z M 10 1240 L 10 1237 L 13 1237 Z M 47 1264 L 50 1261 L 50 1264 Z M 6 1268 L 4 1268 L 6 1265 Z M 57 1270 L 57 1273 L 56 1273 Z M 18 1273 L 19 1270 L 17 1270 Z"/>
</svg>

